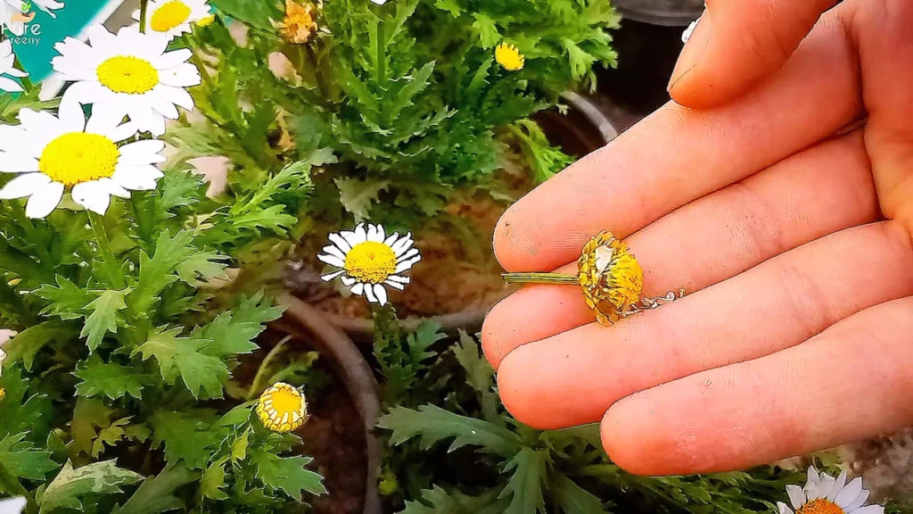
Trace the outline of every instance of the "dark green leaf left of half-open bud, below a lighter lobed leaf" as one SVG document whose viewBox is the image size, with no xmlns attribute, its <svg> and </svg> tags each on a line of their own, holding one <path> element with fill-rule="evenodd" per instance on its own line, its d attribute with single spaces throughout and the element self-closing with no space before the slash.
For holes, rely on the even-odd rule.
<svg viewBox="0 0 913 514">
<path fill-rule="evenodd" d="M 184 461 L 192 469 L 205 469 L 209 457 L 222 437 L 213 428 L 213 412 L 159 411 L 152 415 L 155 438 L 152 447 L 165 445 L 165 458 L 171 464 Z"/>
</svg>

